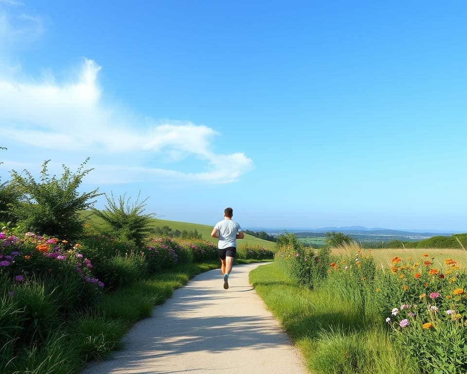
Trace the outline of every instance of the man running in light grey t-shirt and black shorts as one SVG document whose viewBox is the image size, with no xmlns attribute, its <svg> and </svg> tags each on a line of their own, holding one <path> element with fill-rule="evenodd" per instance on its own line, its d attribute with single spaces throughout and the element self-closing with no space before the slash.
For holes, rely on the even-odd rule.
<svg viewBox="0 0 467 374">
<path fill-rule="evenodd" d="M 244 238 L 242 228 L 232 219 L 233 215 L 232 208 L 225 208 L 224 220 L 217 222 L 211 233 L 213 238 L 219 238 L 217 253 L 222 263 L 220 271 L 224 276 L 224 289 L 229 288 L 229 274 L 232 271 L 232 263 L 237 251 L 236 239 Z"/>
</svg>

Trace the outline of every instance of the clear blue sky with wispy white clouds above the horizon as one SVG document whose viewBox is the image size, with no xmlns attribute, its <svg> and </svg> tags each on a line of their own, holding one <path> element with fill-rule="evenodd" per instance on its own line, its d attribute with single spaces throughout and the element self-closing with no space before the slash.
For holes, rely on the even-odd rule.
<svg viewBox="0 0 467 374">
<path fill-rule="evenodd" d="M 0 176 L 161 218 L 467 231 L 465 1 L 0 0 Z M 103 200 L 97 204 L 103 206 Z"/>
</svg>

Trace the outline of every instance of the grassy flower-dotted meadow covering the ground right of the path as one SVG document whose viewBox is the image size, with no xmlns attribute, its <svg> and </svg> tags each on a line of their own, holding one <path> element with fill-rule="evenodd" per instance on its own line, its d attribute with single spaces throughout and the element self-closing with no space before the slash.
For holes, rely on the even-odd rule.
<svg viewBox="0 0 467 374">
<path fill-rule="evenodd" d="M 311 373 L 467 372 L 465 251 L 281 243 L 250 280 Z"/>
</svg>

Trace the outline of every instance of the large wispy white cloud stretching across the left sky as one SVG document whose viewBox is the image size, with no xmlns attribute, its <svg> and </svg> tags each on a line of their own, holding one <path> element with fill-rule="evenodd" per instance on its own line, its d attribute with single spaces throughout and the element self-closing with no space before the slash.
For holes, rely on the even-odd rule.
<svg viewBox="0 0 467 374">
<path fill-rule="evenodd" d="M 213 138 L 219 134 L 209 127 L 188 121 L 155 121 L 116 105 L 105 105 L 97 80 L 100 69 L 85 58 L 77 77 L 69 82 L 56 83 L 50 72 L 46 81 L 0 77 L 2 136 L 62 152 L 73 150 L 116 158 L 131 158 L 133 153 L 145 152 L 172 162 L 192 157 L 202 160 L 205 166 L 196 172 L 181 172 L 151 165 L 121 167 L 93 163 L 99 170 L 96 183 L 154 181 L 162 177 L 230 183 L 251 170 L 252 161 L 245 154 L 216 154 L 212 150 Z"/>
</svg>

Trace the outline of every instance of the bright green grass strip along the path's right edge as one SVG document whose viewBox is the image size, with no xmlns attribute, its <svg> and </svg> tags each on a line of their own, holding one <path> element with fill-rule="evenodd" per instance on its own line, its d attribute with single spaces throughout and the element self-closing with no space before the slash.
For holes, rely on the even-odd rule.
<svg viewBox="0 0 467 374">
<path fill-rule="evenodd" d="M 310 373 L 416 373 L 380 321 L 362 318 L 332 287 L 299 287 L 276 262 L 254 269 L 250 281 L 302 351 Z"/>
</svg>

